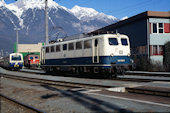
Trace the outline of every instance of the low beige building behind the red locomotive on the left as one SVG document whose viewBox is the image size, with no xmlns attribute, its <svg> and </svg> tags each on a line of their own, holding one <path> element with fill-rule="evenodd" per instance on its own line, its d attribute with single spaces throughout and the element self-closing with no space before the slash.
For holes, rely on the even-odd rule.
<svg viewBox="0 0 170 113">
<path fill-rule="evenodd" d="M 43 43 L 38 44 L 18 44 L 18 52 L 23 54 L 23 57 L 28 54 L 41 54 L 41 47 Z M 16 52 L 16 44 L 14 45 L 14 52 Z"/>
</svg>

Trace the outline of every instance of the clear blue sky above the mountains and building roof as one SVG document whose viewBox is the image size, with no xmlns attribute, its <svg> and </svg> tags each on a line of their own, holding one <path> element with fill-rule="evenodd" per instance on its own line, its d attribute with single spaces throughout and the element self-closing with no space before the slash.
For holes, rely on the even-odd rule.
<svg viewBox="0 0 170 113">
<path fill-rule="evenodd" d="M 6 3 L 15 0 L 5 0 Z M 99 12 L 112 15 L 117 18 L 125 16 L 131 17 L 141 12 L 150 11 L 170 11 L 170 0 L 54 0 L 59 5 L 69 9 L 75 5 L 81 7 L 94 8 Z"/>
</svg>

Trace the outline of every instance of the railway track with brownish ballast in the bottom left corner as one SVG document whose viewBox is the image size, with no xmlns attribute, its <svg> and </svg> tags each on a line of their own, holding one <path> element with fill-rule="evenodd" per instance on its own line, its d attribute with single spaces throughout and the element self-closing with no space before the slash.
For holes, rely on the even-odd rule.
<svg viewBox="0 0 170 113">
<path fill-rule="evenodd" d="M 33 106 L 26 105 L 8 96 L 0 94 L 1 97 L 1 112 L 3 113 L 45 113 Z"/>
</svg>

